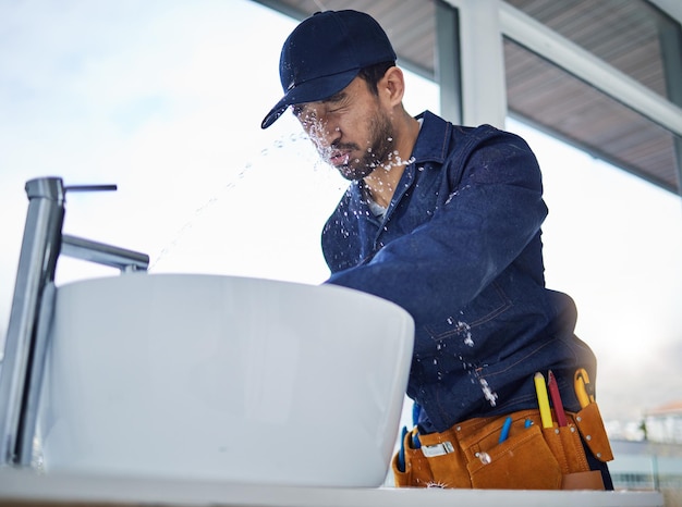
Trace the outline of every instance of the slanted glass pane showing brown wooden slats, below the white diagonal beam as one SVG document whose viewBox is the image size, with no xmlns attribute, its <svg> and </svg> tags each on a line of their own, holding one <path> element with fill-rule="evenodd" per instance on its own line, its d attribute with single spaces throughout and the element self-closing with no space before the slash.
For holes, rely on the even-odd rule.
<svg viewBox="0 0 682 507">
<path fill-rule="evenodd" d="M 504 38 L 510 114 L 674 191 L 674 136 L 616 98 Z"/>
</svg>

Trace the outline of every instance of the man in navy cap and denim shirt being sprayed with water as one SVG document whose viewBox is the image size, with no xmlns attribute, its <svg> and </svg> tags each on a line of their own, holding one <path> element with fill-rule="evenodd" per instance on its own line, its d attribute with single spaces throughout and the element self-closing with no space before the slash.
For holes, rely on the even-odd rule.
<svg viewBox="0 0 682 507">
<path fill-rule="evenodd" d="M 573 334 L 572 300 L 545 287 L 547 208 L 525 141 L 407 114 L 395 53 L 364 13 L 302 22 L 280 78 L 285 95 L 263 128 L 291 107 L 351 181 L 322 231 L 328 283 L 394 301 L 415 321 L 415 429 L 394 457 L 397 484 L 611 489 L 601 419 L 577 397 L 592 393 L 574 391 L 576 371 L 594 380 L 595 358 Z M 549 416 L 536 373 L 553 384 Z"/>
</svg>

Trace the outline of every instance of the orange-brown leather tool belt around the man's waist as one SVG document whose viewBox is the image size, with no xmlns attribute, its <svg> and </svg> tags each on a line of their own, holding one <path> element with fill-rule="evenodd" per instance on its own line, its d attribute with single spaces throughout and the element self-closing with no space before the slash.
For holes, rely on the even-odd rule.
<svg viewBox="0 0 682 507">
<path fill-rule="evenodd" d="M 601 473 L 590 470 L 581 435 L 595 457 L 612 454 L 596 404 L 569 413 L 567 426 L 543 428 L 537 410 L 514 412 L 509 437 L 499 443 L 506 417 L 473 419 L 443 433 L 419 435 L 421 449 L 405 442 L 405 472 L 395 484 L 410 486 L 604 490 Z M 533 424 L 525 426 L 525 421 Z M 409 434 L 410 442 L 412 441 Z M 451 443 L 451 450 L 429 455 L 434 447 Z M 409 454 L 407 450 L 411 453 Z M 416 462 L 410 465 L 410 459 Z"/>
</svg>

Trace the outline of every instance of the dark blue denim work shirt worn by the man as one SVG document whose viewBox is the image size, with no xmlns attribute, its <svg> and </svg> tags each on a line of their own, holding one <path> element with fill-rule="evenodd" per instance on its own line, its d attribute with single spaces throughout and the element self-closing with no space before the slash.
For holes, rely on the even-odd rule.
<svg viewBox="0 0 682 507">
<path fill-rule="evenodd" d="M 407 395 L 419 425 L 537 408 L 533 376 L 557 376 L 568 410 L 580 405 L 576 368 L 595 380 L 592 350 L 574 335 L 572 299 L 545 287 L 547 215 L 537 160 L 516 135 L 455 126 L 426 111 L 382 219 L 353 182 L 322 231 L 327 283 L 407 310 L 415 346 Z M 350 316 L 352 318 L 352 316 Z"/>
</svg>

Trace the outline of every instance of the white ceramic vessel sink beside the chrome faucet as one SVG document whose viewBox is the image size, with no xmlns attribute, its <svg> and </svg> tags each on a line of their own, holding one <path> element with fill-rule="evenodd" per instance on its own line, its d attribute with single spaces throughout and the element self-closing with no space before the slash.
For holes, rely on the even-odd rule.
<svg viewBox="0 0 682 507">
<path fill-rule="evenodd" d="M 414 324 L 336 286 L 127 274 L 58 289 L 49 472 L 378 486 Z"/>
</svg>

